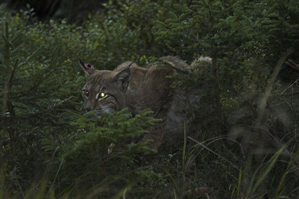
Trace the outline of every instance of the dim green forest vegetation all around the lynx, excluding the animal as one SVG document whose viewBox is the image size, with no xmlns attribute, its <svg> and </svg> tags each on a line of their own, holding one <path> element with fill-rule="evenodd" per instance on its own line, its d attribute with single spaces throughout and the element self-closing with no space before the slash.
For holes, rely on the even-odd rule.
<svg viewBox="0 0 299 199">
<path fill-rule="evenodd" d="M 0 198 L 299 198 L 297 0 L 0 3 Z M 159 151 L 121 146 L 159 121 L 86 113 L 78 58 L 167 55 L 212 58 L 172 77 L 200 103 Z"/>
</svg>

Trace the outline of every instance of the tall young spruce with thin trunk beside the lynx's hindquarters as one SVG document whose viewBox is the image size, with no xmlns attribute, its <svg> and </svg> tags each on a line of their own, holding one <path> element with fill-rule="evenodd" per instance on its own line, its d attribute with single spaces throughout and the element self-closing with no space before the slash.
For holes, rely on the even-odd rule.
<svg viewBox="0 0 299 199">
<path fill-rule="evenodd" d="M 221 117 L 221 96 L 234 87 L 234 84 L 243 81 L 244 72 L 250 66 L 242 63 L 247 56 L 242 53 L 252 47 L 254 29 L 244 13 L 242 3 L 243 1 L 193 1 L 190 8 L 177 5 L 184 10 L 180 16 L 172 13 L 173 17 L 165 23 L 156 22 L 159 25 L 155 27 L 158 28 L 157 39 L 164 39 L 179 55 L 189 61 L 200 54 L 212 58 L 209 71 L 214 76 L 215 84 L 211 95 L 216 102 L 218 119 Z"/>
</svg>

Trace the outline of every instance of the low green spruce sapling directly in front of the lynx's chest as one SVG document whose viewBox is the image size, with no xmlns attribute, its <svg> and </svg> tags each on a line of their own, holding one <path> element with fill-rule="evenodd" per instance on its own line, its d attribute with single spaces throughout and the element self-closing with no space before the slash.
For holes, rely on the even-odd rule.
<svg viewBox="0 0 299 199">
<path fill-rule="evenodd" d="M 52 169 L 60 173 L 57 180 L 62 183 L 62 190 L 71 189 L 73 194 L 79 194 L 80 191 L 75 190 L 83 187 L 88 190 L 94 186 L 100 188 L 96 193 L 99 194 L 103 192 L 101 187 L 113 187 L 110 192 L 101 193 L 103 197 L 111 197 L 125 186 L 134 187 L 155 177 L 151 169 L 136 166 L 138 154 L 153 151 L 146 146 L 150 140 L 138 144 L 130 140 L 147 133 L 143 129 L 160 120 L 147 117 L 152 113 L 150 110 L 134 118 L 126 112 L 127 109 L 113 114 L 103 113 L 101 117 L 92 111 L 83 116 L 76 114 L 78 119 L 72 125 L 78 128 L 77 133 L 68 137 L 65 143 L 57 143 L 53 137 L 43 140 L 43 149 L 54 152 L 50 163 Z"/>
</svg>

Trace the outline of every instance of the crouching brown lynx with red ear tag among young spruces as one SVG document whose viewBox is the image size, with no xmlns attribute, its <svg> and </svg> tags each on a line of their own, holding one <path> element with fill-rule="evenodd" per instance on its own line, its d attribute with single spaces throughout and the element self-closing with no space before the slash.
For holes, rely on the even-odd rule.
<svg viewBox="0 0 299 199">
<path fill-rule="evenodd" d="M 153 111 L 151 117 L 161 118 L 162 122 L 148 127 L 148 133 L 140 141 L 152 139 L 149 147 L 156 150 L 164 134 L 182 130 L 184 116 L 179 111 L 190 101 L 187 90 L 172 88 L 173 80 L 166 78 L 178 73 L 174 68 L 191 71 L 190 66 L 172 56 L 160 59 L 173 67 L 156 62 L 141 68 L 133 62 L 124 62 L 113 71 L 106 71 L 97 70 L 79 59 L 87 76 L 82 89 L 85 110 L 96 110 L 96 115 L 100 116 L 103 112 L 113 113 L 128 108 L 134 117 L 150 108 Z"/>
</svg>

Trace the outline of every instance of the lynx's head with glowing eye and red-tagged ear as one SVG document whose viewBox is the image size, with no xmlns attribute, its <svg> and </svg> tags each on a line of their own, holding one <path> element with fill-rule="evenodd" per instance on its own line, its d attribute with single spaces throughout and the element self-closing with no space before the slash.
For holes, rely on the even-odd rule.
<svg viewBox="0 0 299 199">
<path fill-rule="evenodd" d="M 82 89 L 85 110 L 96 110 L 96 115 L 103 112 L 113 113 L 125 108 L 125 94 L 131 78 L 131 69 L 121 71 L 100 71 L 79 59 L 79 64 L 86 74 L 86 84 Z"/>
</svg>

